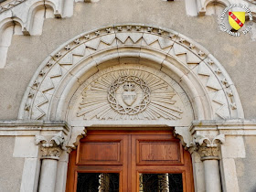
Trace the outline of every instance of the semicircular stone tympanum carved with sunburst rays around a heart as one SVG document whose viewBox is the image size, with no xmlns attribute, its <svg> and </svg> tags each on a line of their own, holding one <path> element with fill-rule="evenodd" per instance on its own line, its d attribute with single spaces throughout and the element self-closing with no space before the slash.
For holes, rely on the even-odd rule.
<svg viewBox="0 0 256 192">
<path fill-rule="evenodd" d="M 176 91 L 155 74 L 140 69 L 110 71 L 82 92 L 77 116 L 85 120 L 181 119 Z"/>
</svg>

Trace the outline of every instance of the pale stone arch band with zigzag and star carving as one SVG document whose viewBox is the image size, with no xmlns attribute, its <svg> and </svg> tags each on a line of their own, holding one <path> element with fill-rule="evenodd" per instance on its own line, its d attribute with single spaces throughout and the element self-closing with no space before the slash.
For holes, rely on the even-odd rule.
<svg viewBox="0 0 256 192">
<path fill-rule="evenodd" d="M 105 58 L 102 55 L 104 53 Z M 112 57 L 108 53 L 112 53 Z M 159 56 L 154 58 L 157 54 Z M 49 119 L 48 112 L 51 110 L 52 100 L 58 97 L 54 96 L 57 88 L 61 87 L 61 83 L 69 82 L 65 78 L 73 75 L 72 70 L 80 68 L 81 63 L 86 63 L 86 60 L 93 59 L 99 65 L 102 59 L 115 59 L 114 55 L 119 58 L 125 58 L 127 55 L 138 59 L 158 59 L 157 63 L 162 66 L 161 70 L 173 68 L 167 64 L 169 60 L 173 60 L 173 66 L 184 72 L 180 77 L 194 79 L 199 83 L 198 86 L 202 87 L 203 92 L 191 100 L 207 98 L 204 100 L 209 101 L 211 105 L 207 107 L 207 111 L 212 115 L 208 116 L 208 119 L 243 117 L 240 99 L 233 82 L 218 60 L 205 48 L 201 48 L 187 37 L 178 35 L 175 31 L 144 25 L 124 25 L 104 27 L 81 34 L 51 54 L 31 80 L 20 108 L 19 118 Z M 186 73 L 190 76 L 187 77 Z M 204 104 L 204 108 L 207 105 Z M 201 112 L 201 115 L 204 115 L 203 113 Z"/>
</svg>

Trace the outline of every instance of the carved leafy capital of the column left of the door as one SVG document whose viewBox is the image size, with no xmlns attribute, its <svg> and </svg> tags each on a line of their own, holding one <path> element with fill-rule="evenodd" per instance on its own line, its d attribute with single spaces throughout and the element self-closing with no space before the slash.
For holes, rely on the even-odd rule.
<svg viewBox="0 0 256 192">
<path fill-rule="evenodd" d="M 42 159 L 56 159 L 59 160 L 59 156 L 63 150 L 66 150 L 64 146 L 64 137 L 61 133 L 54 135 L 49 140 L 47 137 L 42 135 L 37 135 L 35 138 L 35 143 L 40 144 L 41 158 Z"/>
</svg>

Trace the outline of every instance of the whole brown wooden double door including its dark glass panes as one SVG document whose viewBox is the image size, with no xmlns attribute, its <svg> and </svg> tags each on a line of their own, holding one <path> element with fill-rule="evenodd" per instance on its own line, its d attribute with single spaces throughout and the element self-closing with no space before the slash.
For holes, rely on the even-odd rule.
<svg viewBox="0 0 256 192">
<path fill-rule="evenodd" d="M 194 191 L 190 154 L 171 131 L 89 131 L 69 155 L 67 191 Z"/>
</svg>

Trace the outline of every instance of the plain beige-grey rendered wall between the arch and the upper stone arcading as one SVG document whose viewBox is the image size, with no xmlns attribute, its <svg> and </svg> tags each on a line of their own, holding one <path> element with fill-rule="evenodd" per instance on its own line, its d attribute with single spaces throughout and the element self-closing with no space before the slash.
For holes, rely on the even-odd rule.
<svg viewBox="0 0 256 192">
<path fill-rule="evenodd" d="M 119 5 L 118 2 L 116 2 L 115 4 Z M 111 4 L 109 4 L 108 1 L 100 1 L 97 3 L 97 8 L 102 9 L 102 11 L 99 12 L 99 17 L 101 17 L 101 19 L 97 20 L 97 22 L 94 21 L 94 12 L 92 13 L 93 8 L 91 7 L 91 4 L 76 4 L 74 12 L 75 14 L 71 18 L 67 18 L 64 20 L 45 20 L 43 28 L 44 32 L 42 36 L 29 38 L 22 36 L 14 37 L 13 42 L 15 44 L 12 44 L 10 47 L 6 68 L 14 68 L 16 70 L 16 77 L 23 77 L 25 81 L 23 83 L 20 83 L 20 81 L 18 81 L 18 84 L 12 84 L 12 86 L 10 86 L 11 89 L 4 91 L 6 96 L 2 97 L 2 101 L 4 103 L 1 103 L 1 105 L 3 106 L 2 108 L 5 109 L 5 112 L 1 111 L 3 112 L 3 114 L 1 115 L 1 119 L 16 118 L 16 112 L 19 105 L 18 103 L 21 100 L 21 95 L 24 92 L 27 82 L 30 80 L 30 78 L 28 77 L 29 75 L 27 75 L 27 70 L 25 73 L 25 70 L 23 69 L 25 69 L 25 66 L 29 66 L 28 69 L 32 70 L 29 74 L 32 74 L 33 69 L 35 71 L 35 69 L 37 69 L 37 65 L 39 65 L 39 63 L 47 57 L 48 54 L 44 55 L 44 51 L 47 51 L 48 53 L 51 52 L 54 48 L 57 48 L 60 44 L 68 40 L 70 37 L 74 37 L 75 35 L 80 34 L 83 31 L 110 24 L 123 23 L 128 20 L 136 20 L 136 22 L 140 23 L 148 23 L 153 25 L 155 24 L 157 26 L 173 28 L 178 32 L 181 32 L 189 37 L 192 37 L 197 42 L 208 48 L 208 50 L 211 53 L 213 53 L 214 56 L 217 59 L 219 59 L 219 61 L 224 65 L 224 67 L 228 70 L 232 80 L 234 80 L 234 83 L 237 86 L 237 89 L 240 93 L 240 98 L 242 100 L 243 106 L 246 110 L 246 117 L 251 118 L 255 116 L 253 115 L 253 103 L 246 100 L 248 96 L 253 96 L 254 88 L 252 87 L 250 90 L 245 90 L 247 89 L 247 86 L 245 85 L 251 82 L 251 78 L 250 82 L 246 80 L 248 79 L 248 77 L 253 77 L 253 75 L 244 76 L 244 74 L 251 74 L 249 66 L 250 63 L 252 63 L 252 60 L 250 59 L 250 56 L 252 55 L 253 52 L 255 52 L 253 50 L 253 48 L 255 47 L 252 46 L 253 43 L 249 40 L 248 37 L 240 37 L 234 40 L 233 37 L 229 37 L 225 33 L 219 33 L 217 22 L 214 21 L 213 17 L 186 16 L 186 14 L 184 13 L 185 5 L 183 2 L 176 2 L 174 4 L 172 2 L 154 1 L 145 5 L 143 2 L 140 2 L 138 4 L 139 5 L 137 6 L 137 3 L 135 4 L 134 2 L 129 2 L 129 8 L 127 8 L 125 7 L 125 3 L 120 6 L 111 6 Z M 151 5 L 155 5 L 155 9 L 151 9 Z M 120 11 L 123 10 L 122 7 L 125 7 L 125 10 L 127 10 L 130 13 L 135 13 L 136 10 L 138 10 L 138 7 L 140 7 L 140 12 L 147 13 L 147 10 L 150 10 L 151 14 L 149 16 L 145 16 L 142 14 L 134 17 L 133 14 L 125 14 L 123 13 L 123 11 Z M 108 10 L 110 11 L 104 12 L 103 10 L 105 10 L 106 8 L 108 8 Z M 159 14 L 157 14 L 159 11 L 158 9 L 161 10 L 160 12 L 165 15 L 165 19 L 159 19 Z M 85 19 L 86 24 L 84 23 L 85 20 L 82 19 L 83 16 L 81 16 L 85 13 L 87 18 Z M 115 14 L 112 15 L 110 13 Z M 118 17 L 114 17 L 116 15 L 118 15 Z M 107 18 L 107 20 L 105 18 Z M 201 22 L 204 22 L 205 25 L 202 26 Z M 188 27 L 184 25 L 186 23 L 193 23 L 193 25 L 189 25 Z M 70 24 L 72 24 L 73 26 L 72 30 L 69 29 Z M 55 27 L 52 28 L 51 26 Z M 60 31 L 59 28 L 62 28 L 63 30 Z M 69 31 L 69 33 L 64 33 L 64 31 Z M 203 31 L 204 37 L 201 37 L 199 35 L 201 31 Z M 225 45 L 225 43 L 229 44 L 229 48 L 227 48 L 226 46 L 216 48 L 216 44 L 208 44 L 208 40 L 211 41 L 210 38 L 216 39 L 216 41 L 212 42 L 222 42 L 223 45 Z M 240 46 L 237 47 L 237 44 L 239 44 Z M 22 48 L 17 48 L 17 45 L 22 46 Z M 40 46 L 38 47 L 37 45 Z M 24 49 L 23 46 L 25 46 L 26 49 Z M 39 48 L 41 54 L 37 54 L 38 51 L 36 48 Z M 17 52 L 16 50 L 19 51 Z M 231 50 L 237 51 L 239 54 L 236 54 L 234 56 L 233 51 Z M 225 54 L 223 54 L 223 52 L 225 52 Z M 29 60 L 30 55 L 34 56 L 31 60 Z M 41 59 L 35 59 L 35 56 L 40 57 Z M 26 59 L 26 61 L 24 61 L 24 59 Z M 23 61 L 21 62 L 21 60 Z M 236 61 L 236 66 L 231 64 L 231 62 L 233 62 L 232 60 Z M 13 67 L 11 67 L 10 65 Z M 244 72 L 238 74 L 239 71 Z M 11 77 L 9 77 L 9 75 L 6 75 L 5 77 L 0 75 L 0 77 L 4 78 L 3 80 L 1 80 L 2 83 L 11 80 Z M 5 89 L 5 85 L 3 84 L 2 86 L 3 89 Z M 9 92 L 12 90 L 13 92 Z M 20 91 L 20 94 L 17 96 L 15 92 L 16 90 Z M 4 92 L 2 94 L 4 94 Z M 10 106 L 12 108 L 10 108 Z"/>
</svg>

